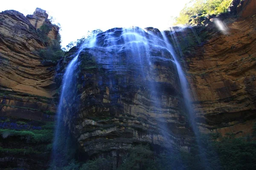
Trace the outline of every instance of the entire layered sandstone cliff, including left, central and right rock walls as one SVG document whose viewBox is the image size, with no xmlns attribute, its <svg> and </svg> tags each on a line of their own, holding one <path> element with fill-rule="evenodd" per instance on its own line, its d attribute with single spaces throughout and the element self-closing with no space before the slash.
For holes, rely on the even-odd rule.
<svg viewBox="0 0 256 170">
<path fill-rule="evenodd" d="M 255 1 L 244 0 L 232 8 L 237 16 L 222 14 L 207 26 L 165 31 L 181 56 L 194 121 L 202 133 L 253 133 L 254 8 Z M 58 29 L 40 8 L 26 17 L 14 10 L 0 13 L 3 168 L 49 167 L 56 100 L 65 68 L 79 50 L 73 47 L 58 60 L 51 49 Z M 95 37 L 95 47 L 79 54 L 77 81 L 69 89 L 73 95 L 64 94 L 61 117 L 77 142 L 79 160 L 111 156 L 118 167 L 128 150 L 140 144 L 159 153 L 166 148 L 189 151 L 195 142 L 174 58 L 163 48 L 160 31 L 147 29 L 110 29 Z"/>
</svg>

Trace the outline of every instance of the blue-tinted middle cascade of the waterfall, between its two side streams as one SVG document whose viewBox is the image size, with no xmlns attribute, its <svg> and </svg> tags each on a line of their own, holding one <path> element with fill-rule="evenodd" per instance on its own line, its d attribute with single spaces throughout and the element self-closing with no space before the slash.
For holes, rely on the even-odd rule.
<svg viewBox="0 0 256 170">
<path fill-rule="evenodd" d="M 177 111 L 173 110 L 174 106 L 162 101 L 170 97 L 165 94 L 162 87 L 168 86 L 166 85 L 168 79 L 170 79 L 170 82 L 179 82 L 179 80 L 177 75 L 162 78 L 158 75 L 161 67 L 165 68 L 163 71 L 166 71 L 167 68 L 169 73 L 177 72 L 175 59 L 166 47 L 166 42 L 163 41 L 160 31 L 153 34 L 138 27 L 113 28 L 98 34 L 94 47 L 84 50 L 92 54 L 98 65 L 102 65 L 102 68 L 108 71 L 109 80 L 106 82 L 106 86 L 111 88 L 109 93 L 112 99 L 116 98 L 116 90 L 113 88 L 118 83 L 116 79 L 123 82 L 122 86 L 129 86 L 128 79 L 131 75 L 134 75 L 131 79 L 143 88 L 143 91 L 148 91 L 145 101 L 147 104 L 146 112 L 157 116 L 160 139 L 169 143 L 163 145 L 172 147 L 175 137 L 170 133 L 172 129 L 169 127 L 169 120 L 166 121 L 166 117 Z M 102 79 L 98 84 L 102 84 Z M 170 89 L 179 91 L 178 86 L 177 83 L 175 87 L 170 87 Z"/>
</svg>

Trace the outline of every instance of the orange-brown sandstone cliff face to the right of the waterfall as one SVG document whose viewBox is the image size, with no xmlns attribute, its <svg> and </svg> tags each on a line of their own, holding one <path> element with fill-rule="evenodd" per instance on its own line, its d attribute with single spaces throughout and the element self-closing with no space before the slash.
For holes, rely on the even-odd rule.
<svg viewBox="0 0 256 170">
<path fill-rule="evenodd" d="M 241 17 L 224 21 L 229 22 L 227 34 L 218 31 L 214 24 L 193 28 L 197 35 L 191 30 L 192 34 L 189 31 L 175 33 L 181 37 L 183 34 L 184 40 L 191 40 L 191 37 L 204 40 L 183 50 L 195 119 L 204 133 L 245 136 L 253 132 L 256 119 L 256 16 L 250 15 L 255 10 L 247 9 L 254 3 L 253 0 L 244 1 L 239 13 Z M 235 21 L 230 23 L 230 20 Z M 181 43 L 184 40 L 177 38 Z"/>
</svg>

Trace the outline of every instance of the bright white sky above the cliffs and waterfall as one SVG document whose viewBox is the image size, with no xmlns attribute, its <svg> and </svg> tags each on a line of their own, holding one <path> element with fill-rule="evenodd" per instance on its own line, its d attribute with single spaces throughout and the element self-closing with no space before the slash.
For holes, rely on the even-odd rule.
<svg viewBox="0 0 256 170">
<path fill-rule="evenodd" d="M 62 46 L 85 36 L 87 31 L 139 26 L 166 29 L 189 0 L 5 0 L 0 11 L 14 9 L 33 14 L 42 8 L 61 25 Z"/>
</svg>

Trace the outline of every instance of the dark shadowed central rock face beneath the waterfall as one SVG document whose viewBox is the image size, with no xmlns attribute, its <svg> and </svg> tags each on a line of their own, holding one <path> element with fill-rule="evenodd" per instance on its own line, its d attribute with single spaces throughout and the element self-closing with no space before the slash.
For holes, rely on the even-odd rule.
<svg viewBox="0 0 256 170">
<path fill-rule="evenodd" d="M 140 28 L 114 28 L 81 51 L 79 104 L 64 119 L 83 152 L 116 152 L 139 143 L 187 147 L 192 133 L 177 69 L 169 51 L 156 45 L 161 43 Z"/>
</svg>

